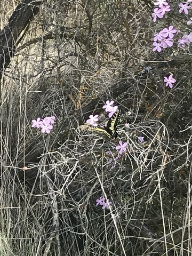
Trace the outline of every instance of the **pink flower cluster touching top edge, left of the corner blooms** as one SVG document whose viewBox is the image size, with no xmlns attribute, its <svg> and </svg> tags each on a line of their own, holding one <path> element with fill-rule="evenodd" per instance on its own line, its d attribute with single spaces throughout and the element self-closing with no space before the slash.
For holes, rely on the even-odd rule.
<svg viewBox="0 0 192 256">
<path fill-rule="evenodd" d="M 153 21 L 156 22 L 157 18 L 162 19 L 166 12 L 170 12 L 170 5 L 166 2 L 166 0 L 157 0 L 154 5 L 158 5 L 158 8 L 155 8 L 152 17 Z"/>
</svg>

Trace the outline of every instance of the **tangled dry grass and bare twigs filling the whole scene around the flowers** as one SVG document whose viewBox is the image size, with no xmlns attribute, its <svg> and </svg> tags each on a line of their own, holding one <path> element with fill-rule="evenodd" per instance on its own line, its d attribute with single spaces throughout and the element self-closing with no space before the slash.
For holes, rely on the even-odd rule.
<svg viewBox="0 0 192 256">
<path fill-rule="evenodd" d="M 1 29 L 18 4 L 0 0 Z M 175 7 L 154 24 L 152 10 L 149 0 L 47 0 L 23 31 L 1 79 L 0 255 L 192 254 L 191 46 L 153 53 L 154 34 L 185 31 L 186 20 Z M 108 99 L 128 142 L 113 169 L 105 152 L 118 141 L 81 129 Z M 50 135 L 31 127 L 52 115 Z M 111 209 L 95 205 L 102 195 Z"/>
</svg>

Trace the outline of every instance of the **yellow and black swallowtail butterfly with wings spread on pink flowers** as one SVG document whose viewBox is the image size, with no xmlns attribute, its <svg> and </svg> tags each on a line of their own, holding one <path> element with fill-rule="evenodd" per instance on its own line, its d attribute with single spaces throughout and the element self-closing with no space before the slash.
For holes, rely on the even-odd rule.
<svg viewBox="0 0 192 256">
<path fill-rule="evenodd" d="M 104 133 L 110 139 L 117 139 L 117 125 L 121 117 L 121 109 L 117 109 L 113 116 L 105 123 L 103 127 L 89 127 L 88 131 Z"/>
</svg>

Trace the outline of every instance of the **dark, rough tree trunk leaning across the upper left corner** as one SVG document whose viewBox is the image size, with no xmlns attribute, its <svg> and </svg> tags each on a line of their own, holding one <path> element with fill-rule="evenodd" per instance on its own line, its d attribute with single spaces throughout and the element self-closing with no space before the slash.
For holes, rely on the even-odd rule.
<svg viewBox="0 0 192 256">
<path fill-rule="evenodd" d="M 14 10 L 9 23 L 0 31 L 0 79 L 14 56 L 21 32 L 34 19 L 43 2 L 44 0 L 23 0 Z"/>
</svg>

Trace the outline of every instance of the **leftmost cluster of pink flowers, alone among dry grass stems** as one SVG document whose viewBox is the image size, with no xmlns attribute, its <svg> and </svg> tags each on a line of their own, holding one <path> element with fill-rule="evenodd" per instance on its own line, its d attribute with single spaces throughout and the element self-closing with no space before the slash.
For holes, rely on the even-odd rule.
<svg viewBox="0 0 192 256">
<path fill-rule="evenodd" d="M 53 129 L 52 124 L 55 123 L 55 116 L 47 116 L 45 118 L 38 117 L 37 120 L 32 120 L 32 127 L 40 128 L 43 133 L 50 133 Z"/>
</svg>

